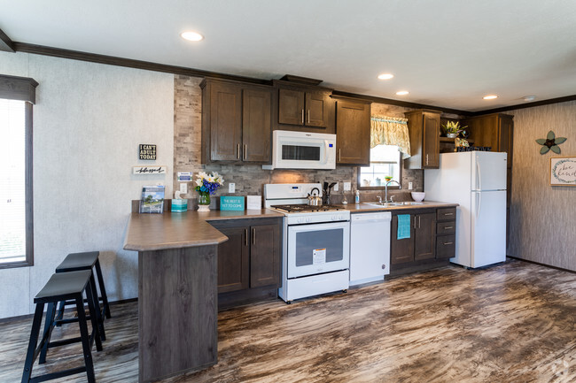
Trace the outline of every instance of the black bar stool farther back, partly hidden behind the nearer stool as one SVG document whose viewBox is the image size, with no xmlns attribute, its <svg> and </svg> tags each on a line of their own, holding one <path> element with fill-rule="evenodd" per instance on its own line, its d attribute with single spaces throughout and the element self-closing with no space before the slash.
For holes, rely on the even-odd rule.
<svg viewBox="0 0 576 383">
<path fill-rule="evenodd" d="M 104 319 L 110 318 L 110 306 L 108 304 L 108 295 L 106 295 L 106 288 L 104 285 L 104 278 L 102 277 L 102 269 L 100 268 L 100 261 L 98 257 L 100 255 L 99 251 L 88 251 L 83 253 L 70 253 L 64 258 L 61 264 L 56 268 L 56 272 L 77 272 L 79 270 L 90 270 L 92 272 L 92 278 L 90 284 L 92 285 L 94 291 L 96 290 L 96 283 L 94 280 L 94 272 L 96 272 L 98 287 L 100 288 L 100 294 L 97 301 L 97 320 L 99 326 L 99 333 L 102 341 L 106 340 L 106 333 L 104 329 Z M 102 309 L 100 310 L 99 302 L 102 301 Z M 58 309 L 58 317 L 56 319 L 57 326 L 65 323 L 75 322 L 76 318 L 63 319 L 64 309 L 67 305 L 74 304 L 72 301 L 61 302 Z"/>
</svg>

